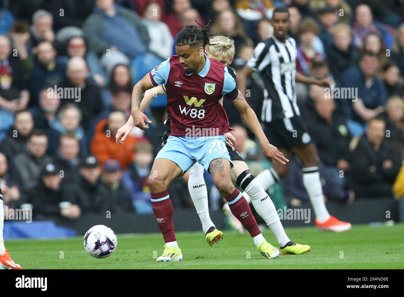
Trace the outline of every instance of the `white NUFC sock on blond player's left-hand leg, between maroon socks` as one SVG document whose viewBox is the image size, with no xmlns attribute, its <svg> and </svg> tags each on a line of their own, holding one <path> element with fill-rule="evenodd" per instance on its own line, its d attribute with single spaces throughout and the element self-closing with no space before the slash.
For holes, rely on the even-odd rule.
<svg viewBox="0 0 404 297">
<path fill-rule="evenodd" d="M 204 168 L 198 162 L 189 169 L 188 190 L 192 202 L 202 223 L 202 230 L 206 234 L 210 227 L 215 227 L 209 216 L 208 190 L 203 178 Z"/>
</svg>

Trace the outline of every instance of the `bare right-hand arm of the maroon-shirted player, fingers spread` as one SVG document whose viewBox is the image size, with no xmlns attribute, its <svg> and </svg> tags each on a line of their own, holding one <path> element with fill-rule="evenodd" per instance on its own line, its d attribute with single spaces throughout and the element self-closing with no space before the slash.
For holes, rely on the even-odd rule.
<svg viewBox="0 0 404 297">
<path fill-rule="evenodd" d="M 251 109 L 250 105 L 248 105 L 240 91 L 238 91 L 238 98 L 231 102 L 240 112 L 240 116 L 244 124 L 248 128 L 250 128 L 255 137 L 257 137 L 264 156 L 271 160 L 271 162 L 273 163 L 275 161 L 278 161 L 282 164 L 286 164 L 286 162 L 289 162 L 289 160 L 286 159 L 284 155 L 278 151 L 278 148 L 269 143 L 267 137 L 262 131 L 261 124 L 258 121 L 257 115 Z"/>
</svg>

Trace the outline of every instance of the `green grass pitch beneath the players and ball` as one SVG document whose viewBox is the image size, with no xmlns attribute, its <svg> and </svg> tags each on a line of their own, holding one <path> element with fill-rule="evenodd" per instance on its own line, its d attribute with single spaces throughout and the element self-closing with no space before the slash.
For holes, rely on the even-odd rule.
<svg viewBox="0 0 404 297">
<path fill-rule="evenodd" d="M 161 234 L 118 234 L 115 253 L 105 259 L 88 255 L 81 236 L 63 240 L 9 240 L 6 247 L 25 269 L 404 268 L 404 224 L 354 225 L 341 234 L 320 232 L 315 227 L 286 228 L 286 233 L 295 242 L 309 244 L 311 252 L 266 259 L 258 253 L 248 234 L 231 230 L 224 230 L 224 240 L 213 247 L 204 241 L 202 232 L 179 232 L 177 241 L 184 260 L 175 263 L 156 263 L 164 245 Z M 263 235 L 278 247 L 269 230 Z"/>
</svg>

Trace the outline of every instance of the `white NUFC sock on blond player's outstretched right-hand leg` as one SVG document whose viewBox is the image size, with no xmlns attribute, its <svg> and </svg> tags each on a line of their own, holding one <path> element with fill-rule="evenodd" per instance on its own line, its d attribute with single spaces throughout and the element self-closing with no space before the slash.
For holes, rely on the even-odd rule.
<svg viewBox="0 0 404 297">
<path fill-rule="evenodd" d="M 251 199 L 255 211 L 257 211 L 258 215 L 263 218 L 272 233 L 274 233 L 279 245 L 284 246 L 288 243 L 290 239 L 282 227 L 274 202 L 272 202 L 271 198 L 269 198 L 268 194 L 264 191 L 258 179 L 253 179 L 245 190 L 246 194 Z M 244 193 L 243 196 L 246 197 Z"/>
</svg>

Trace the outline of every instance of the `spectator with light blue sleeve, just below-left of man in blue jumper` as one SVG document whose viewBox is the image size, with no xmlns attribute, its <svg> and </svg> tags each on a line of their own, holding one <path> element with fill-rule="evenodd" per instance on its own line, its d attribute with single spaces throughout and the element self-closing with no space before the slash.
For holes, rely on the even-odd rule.
<svg viewBox="0 0 404 297">
<path fill-rule="evenodd" d="M 81 36 L 70 38 L 66 43 L 67 56 L 62 57 L 65 63 L 71 57 L 83 58 L 88 67 L 87 78 L 92 78 L 98 86 L 104 86 L 107 82 L 107 77 L 101 67 L 99 59 L 93 53 L 88 53 L 87 43 Z"/>
</svg>

